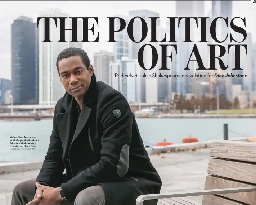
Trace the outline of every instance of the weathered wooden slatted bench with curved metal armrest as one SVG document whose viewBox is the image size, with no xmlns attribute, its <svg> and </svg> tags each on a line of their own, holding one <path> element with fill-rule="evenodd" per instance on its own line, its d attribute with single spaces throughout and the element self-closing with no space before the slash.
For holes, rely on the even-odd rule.
<svg viewBox="0 0 256 205">
<path fill-rule="evenodd" d="M 192 196 L 203 196 L 202 204 L 256 204 L 255 148 L 255 142 L 213 142 L 205 190 L 141 195 L 136 204 L 150 199 L 158 199 L 158 204 L 201 204 Z"/>
</svg>

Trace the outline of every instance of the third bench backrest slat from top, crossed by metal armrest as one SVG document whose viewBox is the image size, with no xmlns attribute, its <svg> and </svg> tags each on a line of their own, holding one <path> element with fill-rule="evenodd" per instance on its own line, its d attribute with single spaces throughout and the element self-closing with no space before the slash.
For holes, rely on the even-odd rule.
<svg viewBox="0 0 256 205">
<path fill-rule="evenodd" d="M 225 189 L 225 188 L 238 188 L 252 186 L 247 183 L 237 182 L 234 180 L 227 180 L 216 176 L 206 176 L 205 190 L 208 189 Z M 241 192 L 234 194 L 220 194 L 229 199 L 240 201 L 246 204 L 256 204 L 255 192 Z"/>
</svg>

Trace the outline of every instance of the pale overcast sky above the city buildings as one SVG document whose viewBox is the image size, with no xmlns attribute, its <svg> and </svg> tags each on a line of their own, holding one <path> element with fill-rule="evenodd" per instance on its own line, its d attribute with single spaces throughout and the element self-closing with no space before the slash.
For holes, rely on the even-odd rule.
<svg viewBox="0 0 256 205">
<path fill-rule="evenodd" d="M 255 41 L 256 5 L 249 1 L 233 1 L 232 15 L 246 17 L 246 31 L 252 33 Z M 130 10 L 147 9 L 160 14 L 162 27 L 166 27 L 167 17 L 175 16 L 175 1 L 0 1 L 1 6 L 1 78 L 11 78 L 11 24 L 23 15 L 37 22 L 40 11 L 59 8 L 71 17 L 98 17 L 100 33 L 99 43 L 84 43 L 83 48 L 93 59 L 93 53 L 99 50 L 113 52 L 109 40 L 109 23 L 107 17 L 116 14 L 128 15 Z M 211 1 L 205 1 L 205 14 L 211 9 Z M 106 33 L 106 35 L 104 35 Z M 96 36 L 96 35 L 95 35 Z"/>
</svg>

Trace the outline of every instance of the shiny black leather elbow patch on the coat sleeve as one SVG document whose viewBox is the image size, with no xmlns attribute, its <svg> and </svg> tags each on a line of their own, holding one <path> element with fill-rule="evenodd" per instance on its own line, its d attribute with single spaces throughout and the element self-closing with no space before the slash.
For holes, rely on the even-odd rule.
<svg viewBox="0 0 256 205">
<path fill-rule="evenodd" d="M 129 145 L 125 144 L 120 152 L 120 158 L 116 169 L 117 174 L 120 177 L 125 176 L 129 169 L 129 149 Z"/>
</svg>

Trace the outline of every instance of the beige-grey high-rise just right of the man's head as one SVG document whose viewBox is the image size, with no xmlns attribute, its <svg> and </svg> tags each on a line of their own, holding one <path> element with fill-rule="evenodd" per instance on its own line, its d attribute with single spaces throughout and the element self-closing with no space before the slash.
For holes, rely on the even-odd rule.
<svg viewBox="0 0 256 205">
<path fill-rule="evenodd" d="M 97 81 L 110 85 L 109 64 L 114 61 L 114 53 L 99 51 L 93 55 L 93 68 Z"/>
</svg>

